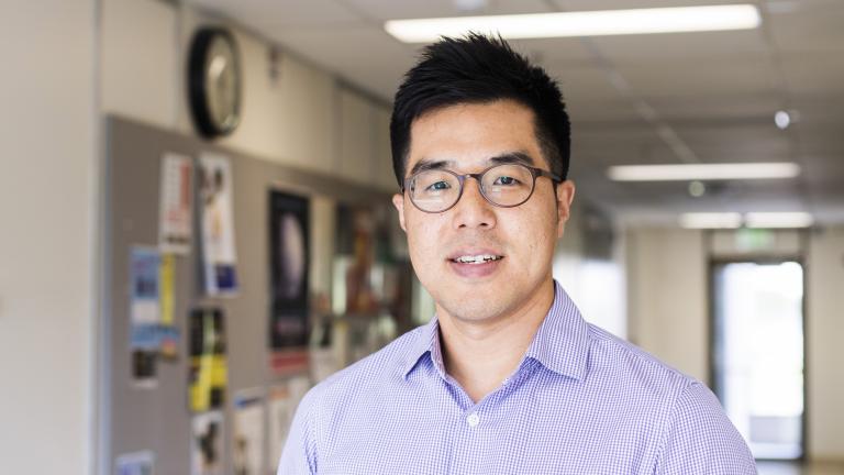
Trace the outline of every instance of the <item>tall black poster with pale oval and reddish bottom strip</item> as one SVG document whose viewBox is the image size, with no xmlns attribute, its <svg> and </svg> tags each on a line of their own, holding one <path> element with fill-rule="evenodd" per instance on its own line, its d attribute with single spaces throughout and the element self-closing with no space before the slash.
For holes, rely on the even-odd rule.
<svg viewBox="0 0 844 475">
<path fill-rule="evenodd" d="M 269 343 L 276 373 L 308 367 L 308 219 L 307 198 L 269 191 Z"/>
</svg>

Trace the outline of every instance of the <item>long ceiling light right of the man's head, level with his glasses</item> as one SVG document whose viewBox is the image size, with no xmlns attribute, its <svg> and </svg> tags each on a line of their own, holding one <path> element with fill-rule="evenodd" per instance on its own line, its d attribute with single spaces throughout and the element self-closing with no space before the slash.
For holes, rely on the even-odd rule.
<svg viewBox="0 0 844 475">
<path fill-rule="evenodd" d="M 607 176 L 615 181 L 770 179 L 798 175 L 800 166 L 795 163 L 621 165 L 607 170 Z"/>
</svg>

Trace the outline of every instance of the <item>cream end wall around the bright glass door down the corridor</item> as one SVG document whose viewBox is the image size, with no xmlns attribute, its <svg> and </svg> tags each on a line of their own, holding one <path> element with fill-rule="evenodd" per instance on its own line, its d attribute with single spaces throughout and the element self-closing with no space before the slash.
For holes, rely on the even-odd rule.
<svg viewBox="0 0 844 475">
<path fill-rule="evenodd" d="M 768 243 L 793 256 L 799 240 L 781 232 Z M 737 255 L 735 235 L 713 235 L 715 252 Z M 708 251 L 701 231 L 626 232 L 631 340 L 706 380 L 709 371 Z M 803 251 L 807 278 L 807 443 L 812 460 L 844 460 L 844 228 L 813 232 Z"/>
</svg>

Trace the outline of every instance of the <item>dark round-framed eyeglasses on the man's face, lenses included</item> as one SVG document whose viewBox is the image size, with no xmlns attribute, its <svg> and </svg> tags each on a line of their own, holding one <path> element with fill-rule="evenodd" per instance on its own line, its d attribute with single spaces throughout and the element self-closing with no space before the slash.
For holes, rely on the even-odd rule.
<svg viewBox="0 0 844 475">
<path fill-rule="evenodd" d="M 528 201 L 536 187 L 537 177 L 551 178 L 555 184 L 563 179 L 542 168 L 520 164 L 495 165 L 477 174 L 458 175 L 447 169 L 427 169 L 404 180 L 401 191 L 408 191 L 410 201 L 424 212 L 447 211 L 463 196 L 466 178 L 478 180 L 480 195 L 491 205 L 513 208 Z"/>
</svg>

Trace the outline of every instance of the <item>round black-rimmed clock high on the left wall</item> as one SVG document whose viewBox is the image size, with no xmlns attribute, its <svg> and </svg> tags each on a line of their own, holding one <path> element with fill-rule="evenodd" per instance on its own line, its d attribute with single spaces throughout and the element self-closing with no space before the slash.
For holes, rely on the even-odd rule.
<svg viewBox="0 0 844 475">
<path fill-rule="evenodd" d="M 193 123 L 202 136 L 232 133 L 241 122 L 241 65 L 234 36 L 221 27 L 193 35 L 188 59 L 188 93 Z"/>
</svg>

